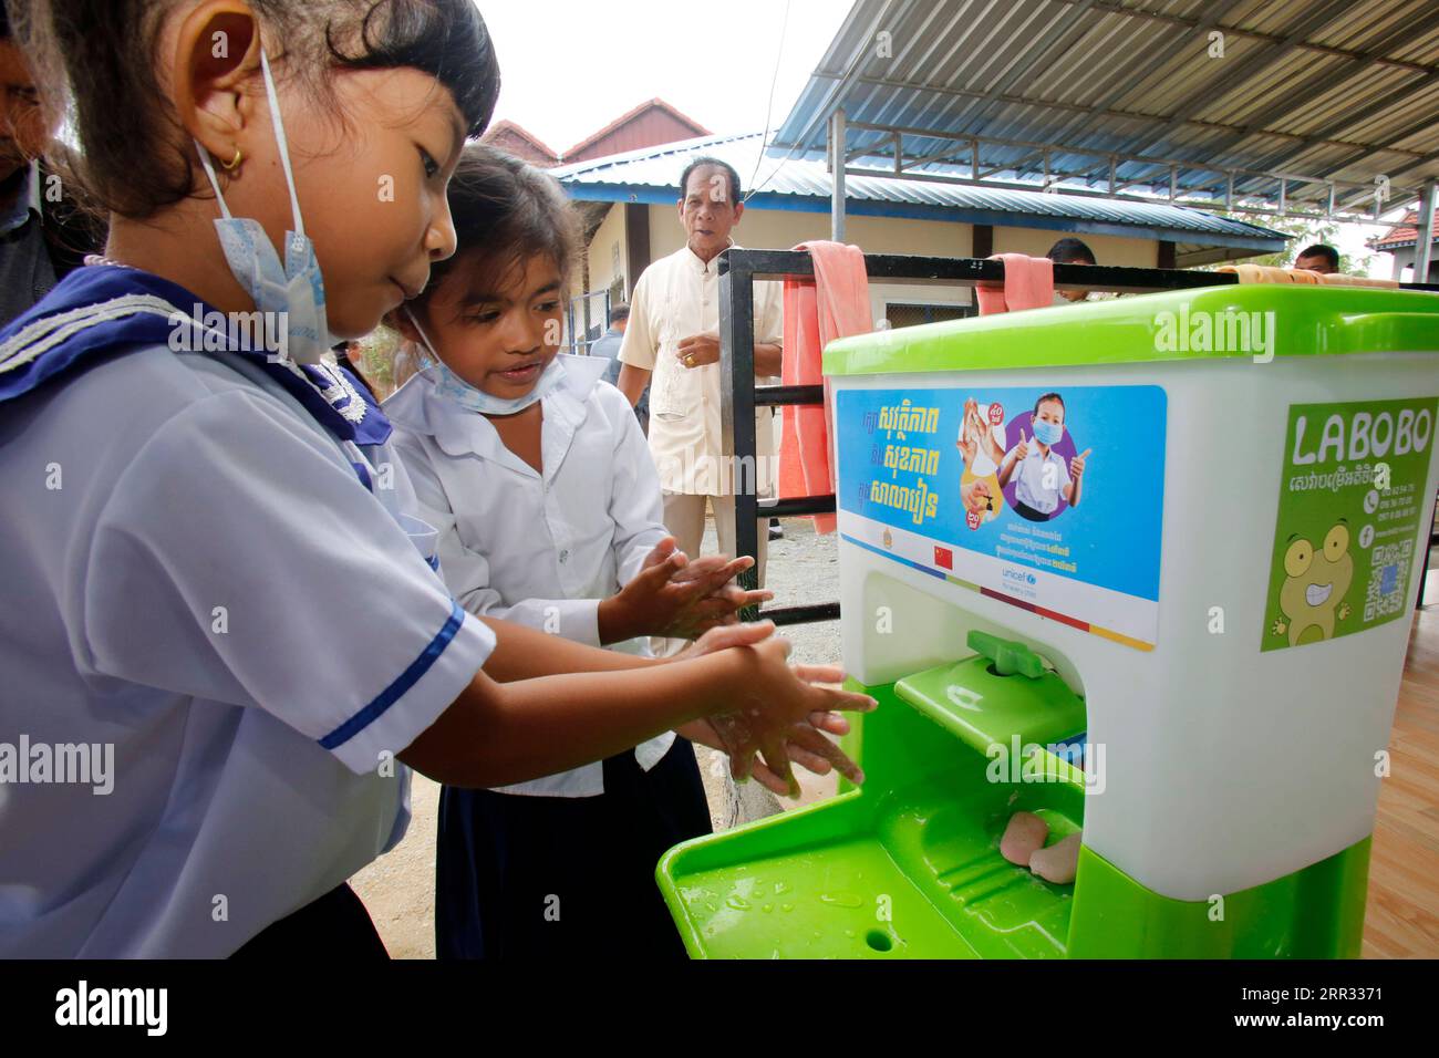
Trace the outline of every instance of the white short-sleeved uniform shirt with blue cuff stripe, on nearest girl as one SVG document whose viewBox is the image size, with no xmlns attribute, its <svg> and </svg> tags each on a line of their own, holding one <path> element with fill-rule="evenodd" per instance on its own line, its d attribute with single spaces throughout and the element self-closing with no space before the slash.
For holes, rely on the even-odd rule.
<svg viewBox="0 0 1439 1058">
<path fill-rule="evenodd" d="M 0 957 L 227 956 L 400 839 L 393 754 L 495 638 L 387 448 L 389 498 L 263 370 L 164 347 L 0 409 L 0 743 L 114 747 L 108 795 L 0 782 Z"/>
</svg>

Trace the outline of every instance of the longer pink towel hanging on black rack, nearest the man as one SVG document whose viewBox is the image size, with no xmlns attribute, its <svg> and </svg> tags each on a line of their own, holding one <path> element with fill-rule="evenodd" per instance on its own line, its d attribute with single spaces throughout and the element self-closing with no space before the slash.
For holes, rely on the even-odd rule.
<svg viewBox="0 0 1439 1058">
<path fill-rule="evenodd" d="M 814 281 L 784 282 L 786 386 L 825 384 L 825 407 L 786 404 L 780 429 L 780 498 L 825 495 L 835 491 L 833 399 L 825 380 L 825 347 L 836 338 L 868 334 L 869 275 L 858 246 L 802 242 L 814 261 Z M 816 514 L 814 531 L 833 533 L 835 515 Z"/>
</svg>

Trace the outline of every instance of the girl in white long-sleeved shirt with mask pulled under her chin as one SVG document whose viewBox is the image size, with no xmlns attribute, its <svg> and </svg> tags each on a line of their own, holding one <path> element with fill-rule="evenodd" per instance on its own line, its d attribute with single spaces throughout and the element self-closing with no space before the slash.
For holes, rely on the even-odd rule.
<svg viewBox="0 0 1439 1058">
<path fill-rule="evenodd" d="M 768 597 L 731 583 L 753 560 L 689 563 L 673 550 L 645 436 L 600 381 L 606 361 L 558 354 L 578 245 L 558 184 L 472 144 L 449 202 L 459 250 L 391 317 L 432 363 L 386 412 L 460 605 L 645 655 L 643 636 L 691 638 Z M 843 730 L 837 717 L 813 720 Z M 707 723 L 682 734 L 724 746 Z M 817 730 L 796 740 L 791 754 L 812 770 L 835 760 L 852 773 Z M 694 750 L 673 733 L 528 783 L 446 787 L 436 951 L 584 956 L 623 923 L 630 953 L 682 954 L 655 864 L 708 832 Z"/>
</svg>

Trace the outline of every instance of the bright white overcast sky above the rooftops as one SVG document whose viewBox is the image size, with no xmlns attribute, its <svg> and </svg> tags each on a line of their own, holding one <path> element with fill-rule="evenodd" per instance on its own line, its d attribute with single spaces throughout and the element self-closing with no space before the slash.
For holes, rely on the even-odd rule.
<svg viewBox="0 0 1439 1058">
<path fill-rule="evenodd" d="M 499 56 L 495 119 L 558 153 L 655 96 L 717 134 L 758 132 L 778 69 L 773 134 L 850 9 L 850 0 L 476 3 Z M 1337 242 L 1364 253 L 1364 239 L 1384 230 L 1343 225 Z M 1387 278 L 1387 255 L 1374 256 L 1371 273 Z"/>
</svg>

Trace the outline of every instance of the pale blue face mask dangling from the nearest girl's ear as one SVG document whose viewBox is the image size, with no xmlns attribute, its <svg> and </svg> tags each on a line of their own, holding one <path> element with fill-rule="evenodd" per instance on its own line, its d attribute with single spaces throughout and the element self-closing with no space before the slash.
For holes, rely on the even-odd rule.
<svg viewBox="0 0 1439 1058">
<path fill-rule="evenodd" d="M 289 147 L 285 143 L 285 122 L 279 115 L 279 98 L 275 94 L 275 78 L 271 73 L 269 58 L 260 49 L 260 69 L 265 75 L 265 94 L 269 98 L 271 118 L 275 122 L 275 143 L 279 147 L 281 166 L 285 168 L 285 183 L 289 187 L 289 209 L 295 222 L 294 230 L 285 233 L 285 265 L 279 263 L 275 245 L 265 235 L 258 220 L 230 216 L 220 193 L 220 181 L 214 177 L 210 153 L 196 141 L 200 164 L 210 177 L 214 199 L 220 203 L 220 219 L 214 229 L 220 235 L 220 249 L 245 292 L 255 301 L 260 312 L 283 314 L 283 327 L 266 327 L 269 334 L 279 334 L 279 348 L 275 360 L 294 360 L 301 364 L 318 364 L 319 357 L 334 345 L 325 320 L 325 281 L 315 259 L 315 245 L 305 235 L 305 222 L 299 216 L 299 197 L 295 194 L 295 173 L 289 164 Z"/>
</svg>

